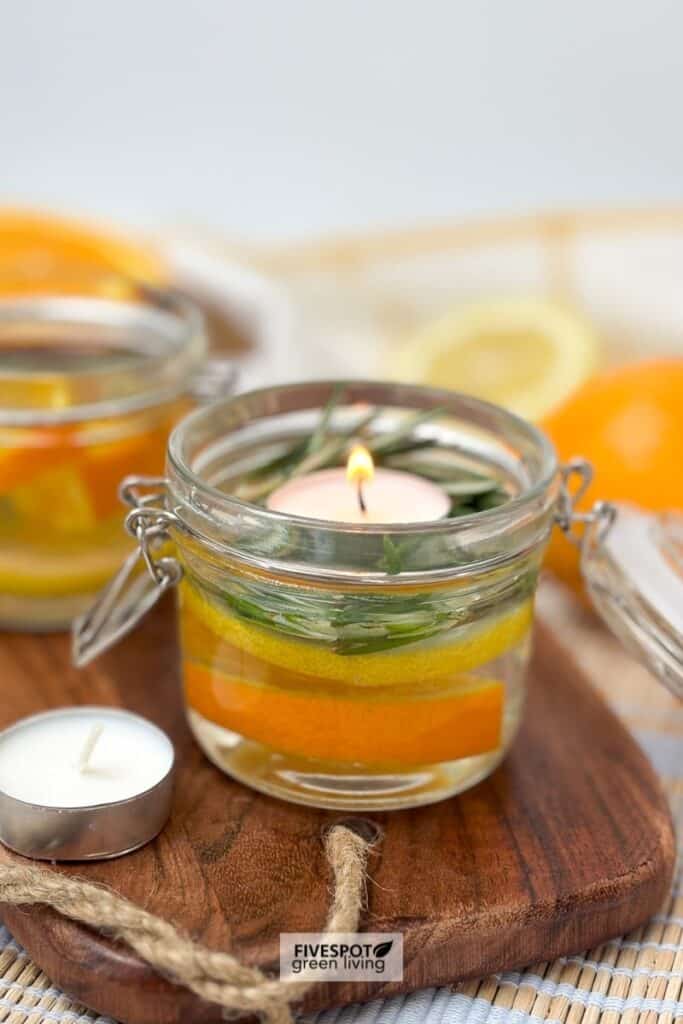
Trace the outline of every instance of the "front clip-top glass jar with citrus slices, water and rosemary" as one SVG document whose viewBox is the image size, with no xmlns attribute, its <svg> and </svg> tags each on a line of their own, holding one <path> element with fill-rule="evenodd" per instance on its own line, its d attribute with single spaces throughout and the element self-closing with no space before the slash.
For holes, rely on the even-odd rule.
<svg viewBox="0 0 683 1024">
<path fill-rule="evenodd" d="M 77 624 L 77 664 L 124 636 L 178 585 L 187 720 L 221 770 L 316 807 L 442 800 L 488 775 L 515 736 L 537 580 L 557 522 L 581 544 L 591 593 L 608 622 L 628 638 L 629 615 L 615 610 L 628 607 L 647 635 L 638 652 L 673 689 L 683 684 L 680 634 L 672 627 L 663 640 L 660 609 L 652 617 L 642 587 L 631 584 L 637 613 L 620 596 L 624 566 L 615 567 L 609 540 L 629 513 L 617 516 L 604 503 L 575 513 L 590 468 L 581 461 L 559 467 L 540 430 L 496 406 L 351 382 L 327 428 L 351 436 L 370 407 L 369 444 L 377 445 L 416 411 L 437 410 L 413 439 L 494 477 L 509 496 L 498 507 L 383 525 L 292 516 L 239 500 L 236 480 L 254 465 L 282 467 L 285 451 L 315 437 L 339 387 L 255 391 L 175 428 L 166 477 L 130 477 L 123 487 L 138 551 Z M 672 586 L 683 587 L 675 554 L 683 531 L 676 530 L 670 522 L 663 536 L 678 564 Z M 169 541 L 173 555 L 160 550 Z M 137 572 L 140 562 L 148 574 Z"/>
</svg>

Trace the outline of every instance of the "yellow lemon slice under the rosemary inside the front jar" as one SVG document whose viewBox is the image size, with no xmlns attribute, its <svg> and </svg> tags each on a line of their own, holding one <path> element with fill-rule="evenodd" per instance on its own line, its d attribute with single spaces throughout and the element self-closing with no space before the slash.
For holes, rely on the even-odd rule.
<svg viewBox="0 0 683 1024">
<path fill-rule="evenodd" d="M 398 647 L 372 654 L 337 654 L 329 647 L 291 639 L 237 618 L 220 608 L 186 579 L 180 585 L 183 633 L 189 639 L 193 620 L 245 653 L 315 679 L 336 679 L 355 686 L 398 685 L 469 672 L 500 657 L 527 634 L 532 600 L 488 617 L 482 624 L 451 630 L 444 641 Z"/>
</svg>

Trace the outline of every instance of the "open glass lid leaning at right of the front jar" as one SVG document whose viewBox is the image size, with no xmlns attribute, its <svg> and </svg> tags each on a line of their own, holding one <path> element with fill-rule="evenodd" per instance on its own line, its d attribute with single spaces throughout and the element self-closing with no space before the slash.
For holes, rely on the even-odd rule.
<svg viewBox="0 0 683 1024">
<path fill-rule="evenodd" d="M 683 697 L 683 515 L 604 503 L 593 515 L 581 555 L 593 603 L 625 646 Z"/>
</svg>

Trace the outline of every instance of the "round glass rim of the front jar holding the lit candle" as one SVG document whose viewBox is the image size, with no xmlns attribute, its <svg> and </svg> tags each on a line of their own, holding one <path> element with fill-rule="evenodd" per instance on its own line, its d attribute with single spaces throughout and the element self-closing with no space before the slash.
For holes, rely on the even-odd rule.
<svg viewBox="0 0 683 1024">
<path fill-rule="evenodd" d="M 201 431 L 207 421 L 217 412 L 237 412 L 240 407 L 247 409 L 250 404 L 262 402 L 264 407 L 273 404 L 278 398 L 289 395 L 296 397 L 297 393 L 315 388 L 330 397 L 334 390 L 343 384 L 349 392 L 349 396 L 356 401 L 368 401 L 364 391 L 374 391 L 378 389 L 390 389 L 396 398 L 404 399 L 405 402 L 417 400 L 417 408 L 443 408 L 445 413 L 460 414 L 469 412 L 476 419 L 477 416 L 496 417 L 508 429 L 509 432 L 524 435 L 527 441 L 532 444 L 540 455 L 541 472 L 539 478 L 519 495 L 511 497 L 503 505 L 496 508 L 485 509 L 462 515 L 457 518 L 436 519 L 430 521 L 399 522 L 399 523 L 349 523 L 336 520 L 316 519 L 311 516 L 292 515 L 290 513 L 279 512 L 274 509 L 265 508 L 262 505 L 239 499 L 203 479 L 189 465 L 186 445 L 193 432 Z M 325 394 L 323 395 L 325 398 Z M 321 408 L 325 404 L 322 400 Z M 456 410 L 456 407 L 458 409 Z M 267 415 L 267 414 L 266 414 Z M 245 416 L 241 425 L 246 426 L 250 418 Z M 174 427 L 168 441 L 167 468 L 171 483 L 173 474 L 183 484 L 183 490 L 193 496 L 193 501 L 198 501 L 204 507 L 213 506 L 225 513 L 248 513 L 251 517 L 257 517 L 263 523 L 291 524 L 302 529 L 314 528 L 319 531 L 334 532 L 339 535 L 362 535 L 362 536 L 384 536 L 386 534 L 402 535 L 403 537 L 415 535 L 434 535 L 452 530 L 463 530 L 472 525 L 492 525 L 496 522 L 505 521 L 525 508 L 538 502 L 546 492 L 552 486 L 557 477 L 558 462 L 555 450 L 548 436 L 535 424 L 523 420 L 521 417 L 508 410 L 503 409 L 494 402 L 483 398 L 476 398 L 472 395 L 460 391 L 452 391 L 445 388 L 428 387 L 417 384 L 402 384 L 396 382 L 384 382 L 366 379 L 353 379 L 348 381 L 335 380 L 314 380 L 301 383 L 281 384 L 270 387 L 258 388 L 233 395 L 220 402 L 215 402 L 210 407 L 200 408 L 185 416 Z"/>
</svg>

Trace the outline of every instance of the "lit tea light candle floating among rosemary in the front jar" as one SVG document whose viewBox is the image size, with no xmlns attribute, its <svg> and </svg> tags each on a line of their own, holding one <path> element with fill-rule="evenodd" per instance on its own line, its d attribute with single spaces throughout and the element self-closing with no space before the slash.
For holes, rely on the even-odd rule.
<svg viewBox="0 0 683 1024">
<path fill-rule="evenodd" d="M 273 512 L 329 522 L 428 522 L 449 514 L 451 500 L 436 483 L 416 473 L 375 467 L 356 444 L 346 467 L 295 476 L 272 492 Z"/>
</svg>

